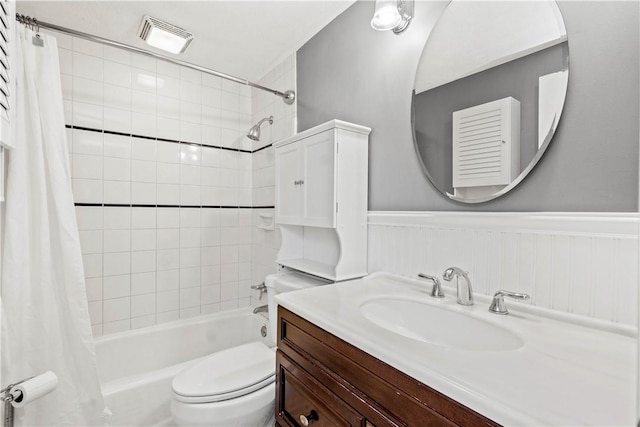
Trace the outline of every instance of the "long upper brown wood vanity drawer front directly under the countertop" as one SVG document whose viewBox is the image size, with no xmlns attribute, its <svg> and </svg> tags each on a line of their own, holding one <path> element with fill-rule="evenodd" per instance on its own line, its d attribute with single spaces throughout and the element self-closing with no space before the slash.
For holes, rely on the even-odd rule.
<svg viewBox="0 0 640 427">
<path fill-rule="evenodd" d="M 278 310 L 279 351 L 376 426 L 499 425 L 285 308 Z"/>
</svg>

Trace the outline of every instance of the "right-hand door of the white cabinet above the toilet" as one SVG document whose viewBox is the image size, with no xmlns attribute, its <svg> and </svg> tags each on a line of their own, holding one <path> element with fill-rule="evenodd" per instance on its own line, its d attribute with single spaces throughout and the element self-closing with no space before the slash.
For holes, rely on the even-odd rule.
<svg viewBox="0 0 640 427">
<path fill-rule="evenodd" d="M 304 224 L 335 227 L 336 144 L 335 131 L 322 132 L 302 140 Z"/>
</svg>

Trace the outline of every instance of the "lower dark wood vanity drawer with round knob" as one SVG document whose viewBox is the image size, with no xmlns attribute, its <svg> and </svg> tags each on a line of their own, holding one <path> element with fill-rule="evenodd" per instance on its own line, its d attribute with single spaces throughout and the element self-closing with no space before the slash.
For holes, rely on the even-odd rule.
<svg viewBox="0 0 640 427">
<path fill-rule="evenodd" d="M 276 421 L 280 425 L 364 426 L 364 417 L 307 375 L 280 351 L 276 355 L 276 366 Z"/>
</svg>

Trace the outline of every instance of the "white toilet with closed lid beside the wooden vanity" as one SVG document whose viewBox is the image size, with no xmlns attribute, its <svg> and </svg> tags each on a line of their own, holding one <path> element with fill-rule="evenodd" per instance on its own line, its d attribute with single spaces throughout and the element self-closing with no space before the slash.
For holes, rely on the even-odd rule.
<svg viewBox="0 0 640 427">
<path fill-rule="evenodd" d="M 267 276 L 269 345 L 260 341 L 222 350 L 173 378 L 171 413 L 178 426 L 267 426 L 274 424 L 274 296 L 325 282 L 297 272 Z"/>
</svg>

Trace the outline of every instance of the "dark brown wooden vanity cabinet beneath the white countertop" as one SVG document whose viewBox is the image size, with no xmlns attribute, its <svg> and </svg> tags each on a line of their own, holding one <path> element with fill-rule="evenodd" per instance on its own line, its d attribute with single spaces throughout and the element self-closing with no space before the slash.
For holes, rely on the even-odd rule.
<svg viewBox="0 0 640 427">
<path fill-rule="evenodd" d="M 279 307 L 276 425 L 499 424 Z"/>
</svg>

